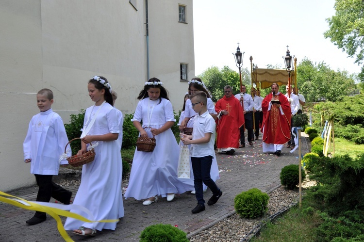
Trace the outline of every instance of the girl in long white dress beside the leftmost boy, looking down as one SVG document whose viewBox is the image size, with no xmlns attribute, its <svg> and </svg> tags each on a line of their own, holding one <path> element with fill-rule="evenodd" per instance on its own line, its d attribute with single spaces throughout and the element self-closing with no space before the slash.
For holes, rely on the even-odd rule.
<svg viewBox="0 0 364 242">
<path fill-rule="evenodd" d="M 117 220 L 124 216 L 121 193 L 122 161 L 116 141 L 119 126 L 110 93 L 111 86 L 106 78 L 94 76 L 88 82 L 87 88 L 95 105 L 86 109 L 81 135 L 82 148 L 77 155 L 85 153 L 88 145 L 98 145 L 95 147 L 95 160 L 83 165 L 81 185 L 73 204 L 90 210 L 93 215 L 93 218 L 89 218 L 91 220 Z M 80 213 L 78 210 L 71 211 Z M 65 229 L 73 229 L 74 233 L 80 235 L 91 235 L 103 228 L 115 230 L 116 222 L 84 223 L 67 218 L 65 223 Z"/>
</svg>

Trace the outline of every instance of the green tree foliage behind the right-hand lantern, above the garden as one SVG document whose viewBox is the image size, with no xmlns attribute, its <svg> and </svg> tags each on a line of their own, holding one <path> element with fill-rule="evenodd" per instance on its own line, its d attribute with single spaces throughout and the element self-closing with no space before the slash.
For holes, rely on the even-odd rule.
<svg viewBox="0 0 364 242">
<path fill-rule="evenodd" d="M 336 101 L 348 96 L 354 89 L 353 76 L 347 71 L 334 71 L 325 62 L 313 63 L 307 57 L 297 66 L 299 93 L 306 102 Z"/>
</svg>

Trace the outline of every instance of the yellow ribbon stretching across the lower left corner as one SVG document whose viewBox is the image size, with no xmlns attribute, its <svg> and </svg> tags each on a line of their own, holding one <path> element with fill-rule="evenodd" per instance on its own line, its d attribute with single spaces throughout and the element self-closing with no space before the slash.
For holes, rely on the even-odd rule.
<svg viewBox="0 0 364 242">
<path fill-rule="evenodd" d="M 7 198 L 5 196 L 14 197 L 14 198 Z M 19 200 L 19 201 L 17 201 L 17 200 Z M 11 205 L 14 205 L 14 206 L 22 208 L 22 209 L 26 209 L 26 210 L 34 210 L 34 211 L 40 211 L 40 212 L 48 213 L 50 216 L 52 216 L 56 220 L 58 231 L 61 234 L 62 238 L 66 242 L 73 242 L 73 240 L 71 239 L 71 237 L 68 236 L 65 228 L 63 227 L 62 220 L 58 215 L 78 219 L 78 220 L 81 220 L 81 221 L 87 222 L 87 223 L 95 223 L 95 222 L 113 223 L 113 222 L 118 221 L 117 219 L 91 221 L 91 220 L 89 220 L 89 219 L 87 219 L 87 218 L 85 218 L 85 217 L 83 217 L 83 216 L 81 216 L 81 215 L 79 215 L 77 213 L 62 210 L 62 209 L 57 209 L 57 208 L 51 208 L 51 207 L 47 207 L 45 205 L 40 205 L 40 204 L 30 202 L 30 201 L 27 201 L 25 199 L 22 199 L 22 198 L 19 198 L 19 197 L 10 195 L 10 194 L 3 193 L 1 191 L 0 191 L 0 201 L 11 204 Z"/>
</svg>

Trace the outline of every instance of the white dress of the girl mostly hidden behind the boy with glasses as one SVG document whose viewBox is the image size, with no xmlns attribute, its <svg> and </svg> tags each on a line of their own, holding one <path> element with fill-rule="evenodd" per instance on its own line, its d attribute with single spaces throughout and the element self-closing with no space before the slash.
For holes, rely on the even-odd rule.
<svg viewBox="0 0 364 242">
<path fill-rule="evenodd" d="M 209 113 L 216 114 L 215 105 L 214 105 L 214 102 L 211 100 L 211 98 L 207 98 L 207 111 Z M 197 113 L 192 108 L 191 99 L 188 99 L 186 101 L 185 111 L 184 111 L 183 114 L 184 114 L 184 117 L 192 117 L 193 116 L 188 121 L 187 126 L 186 126 L 187 128 L 193 128 L 194 118 L 195 118 L 195 115 Z M 191 181 L 193 183 L 194 176 L 193 176 L 193 171 L 192 171 L 192 163 L 190 163 L 190 167 L 191 167 L 191 169 L 190 169 L 191 170 L 191 178 L 190 179 L 191 179 Z M 217 166 L 217 161 L 216 161 L 216 155 L 215 154 L 213 156 L 213 161 L 212 161 L 212 164 L 211 164 L 210 177 L 214 181 L 220 179 L 219 168 Z M 207 189 L 207 186 L 205 184 L 203 184 L 203 190 L 206 190 L 206 189 Z"/>
</svg>

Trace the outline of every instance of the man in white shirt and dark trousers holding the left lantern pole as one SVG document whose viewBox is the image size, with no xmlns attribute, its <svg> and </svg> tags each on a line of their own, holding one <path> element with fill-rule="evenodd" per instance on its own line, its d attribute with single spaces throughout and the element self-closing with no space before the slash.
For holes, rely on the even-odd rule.
<svg viewBox="0 0 364 242">
<path fill-rule="evenodd" d="M 244 110 L 244 119 L 245 119 L 245 129 L 248 130 L 248 142 L 249 145 L 253 145 L 254 140 L 254 132 L 253 132 L 253 98 L 249 94 L 247 94 L 247 87 L 245 85 L 241 86 L 242 93 L 236 94 L 234 97 L 239 101 L 243 102 L 243 110 Z M 240 143 L 239 148 L 245 147 L 245 133 L 244 126 L 240 128 Z"/>
</svg>

